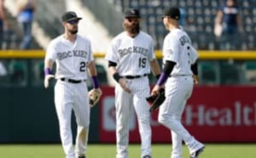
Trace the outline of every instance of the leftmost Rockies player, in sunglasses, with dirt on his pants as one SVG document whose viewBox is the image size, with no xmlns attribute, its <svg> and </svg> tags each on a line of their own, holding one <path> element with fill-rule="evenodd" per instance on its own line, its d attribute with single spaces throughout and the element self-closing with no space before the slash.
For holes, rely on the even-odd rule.
<svg viewBox="0 0 256 158">
<path fill-rule="evenodd" d="M 65 33 L 50 42 L 45 56 L 45 88 L 49 86 L 51 78 L 57 79 L 54 87 L 54 102 L 66 158 L 85 157 L 90 121 L 87 97 L 89 94 L 85 82 L 87 68 L 92 77 L 93 92 L 101 93 L 91 43 L 77 34 L 78 22 L 81 19 L 75 12 L 66 12 L 62 15 Z M 51 72 L 53 62 L 57 65 L 55 76 Z M 72 110 L 77 122 L 76 151 L 73 148 L 70 125 Z"/>
</svg>

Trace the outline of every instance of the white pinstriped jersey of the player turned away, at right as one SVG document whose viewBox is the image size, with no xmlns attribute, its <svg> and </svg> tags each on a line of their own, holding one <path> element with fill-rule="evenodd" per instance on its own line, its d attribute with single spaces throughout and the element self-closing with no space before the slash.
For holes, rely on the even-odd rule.
<svg viewBox="0 0 256 158">
<path fill-rule="evenodd" d="M 175 62 L 171 76 L 192 75 L 191 64 L 196 62 L 197 51 L 191 45 L 188 34 L 182 29 L 174 29 L 164 39 L 163 63 Z"/>
</svg>

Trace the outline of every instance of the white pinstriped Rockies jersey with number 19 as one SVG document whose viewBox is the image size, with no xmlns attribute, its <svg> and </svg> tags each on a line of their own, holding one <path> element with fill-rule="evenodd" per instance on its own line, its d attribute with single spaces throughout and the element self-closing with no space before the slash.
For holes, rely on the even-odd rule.
<svg viewBox="0 0 256 158">
<path fill-rule="evenodd" d="M 134 38 L 124 31 L 111 41 L 105 58 L 117 63 L 121 76 L 149 74 L 149 62 L 155 58 L 153 39 L 143 31 Z"/>
</svg>

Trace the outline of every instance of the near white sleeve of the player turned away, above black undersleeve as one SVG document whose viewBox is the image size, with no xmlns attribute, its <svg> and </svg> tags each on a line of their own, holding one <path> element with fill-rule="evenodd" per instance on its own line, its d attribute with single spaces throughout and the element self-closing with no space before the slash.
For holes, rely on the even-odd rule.
<svg viewBox="0 0 256 158">
<path fill-rule="evenodd" d="M 178 38 L 175 38 L 173 36 L 169 36 L 169 38 L 166 39 L 165 48 L 164 48 L 164 55 L 165 60 L 169 60 L 175 63 L 178 63 L 179 60 L 179 41 Z"/>
</svg>

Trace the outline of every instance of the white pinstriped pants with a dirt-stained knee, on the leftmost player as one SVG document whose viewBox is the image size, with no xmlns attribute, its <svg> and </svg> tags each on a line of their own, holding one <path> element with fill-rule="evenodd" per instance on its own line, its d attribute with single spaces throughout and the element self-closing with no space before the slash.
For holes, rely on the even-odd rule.
<svg viewBox="0 0 256 158">
<path fill-rule="evenodd" d="M 85 82 L 74 84 L 58 80 L 54 87 L 54 101 L 60 127 L 60 137 L 66 158 L 84 155 L 90 123 L 88 90 Z M 71 111 L 77 122 L 75 149 L 71 133 Z"/>
</svg>

